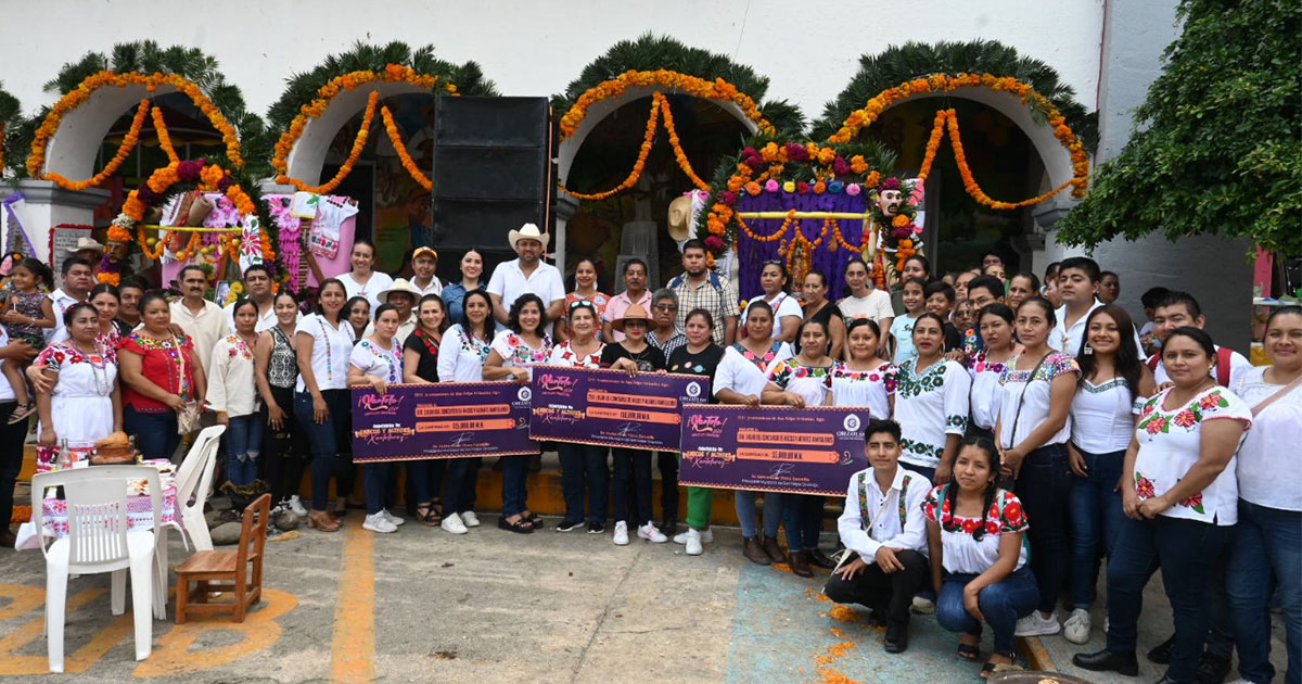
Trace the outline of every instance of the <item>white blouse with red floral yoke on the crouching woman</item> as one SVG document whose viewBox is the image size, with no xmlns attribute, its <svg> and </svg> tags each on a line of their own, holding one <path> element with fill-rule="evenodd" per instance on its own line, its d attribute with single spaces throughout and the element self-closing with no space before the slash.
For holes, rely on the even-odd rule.
<svg viewBox="0 0 1302 684">
<path fill-rule="evenodd" d="M 995 500 L 986 511 L 986 533 L 980 541 L 973 533 L 980 526 L 979 517 L 954 515 L 945 496 L 947 487 L 932 487 L 922 502 L 927 520 L 940 525 L 941 565 L 947 572 L 980 575 L 999 560 L 999 538 L 1004 534 L 1025 533 L 1030 529 L 1022 502 L 1012 491 L 995 491 Z M 932 559 L 935 562 L 935 559 Z M 1026 541 L 1017 556 L 1017 567 L 1026 564 Z"/>
</svg>

